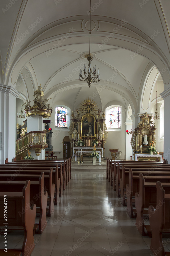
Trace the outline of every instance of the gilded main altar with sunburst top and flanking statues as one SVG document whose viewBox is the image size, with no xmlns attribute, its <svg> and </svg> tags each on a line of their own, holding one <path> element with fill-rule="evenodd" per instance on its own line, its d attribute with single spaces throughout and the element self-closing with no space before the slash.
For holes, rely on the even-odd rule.
<svg viewBox="0 0 170 256">
<path fill-rule="evenodd" d="M 88 157 L 94 147 L 94 139 L 97 141 L 96 151 L 104 157 L 104 145 L 107 141 L 108 131 L 105 124 L 105 113 L 92 99 L 86 99 L 80 104 L 80 108 L 72 111 L 71 125 L 69 128 L 69 139 L 71 142 L 72 156 L 77 152 Z M 79 139 L 83 146 L 80 146 Z"/>
</svg>

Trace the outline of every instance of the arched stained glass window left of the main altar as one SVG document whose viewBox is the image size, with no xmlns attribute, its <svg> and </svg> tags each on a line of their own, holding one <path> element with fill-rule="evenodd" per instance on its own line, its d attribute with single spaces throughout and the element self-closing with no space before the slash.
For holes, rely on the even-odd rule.
<svg viewBox="0 0 170 256">
<path fill-rule="evenodd" d="M 55 119 L 56 127 L 67 127 L 67 109 L 57 107 Z"/>
</svg>

